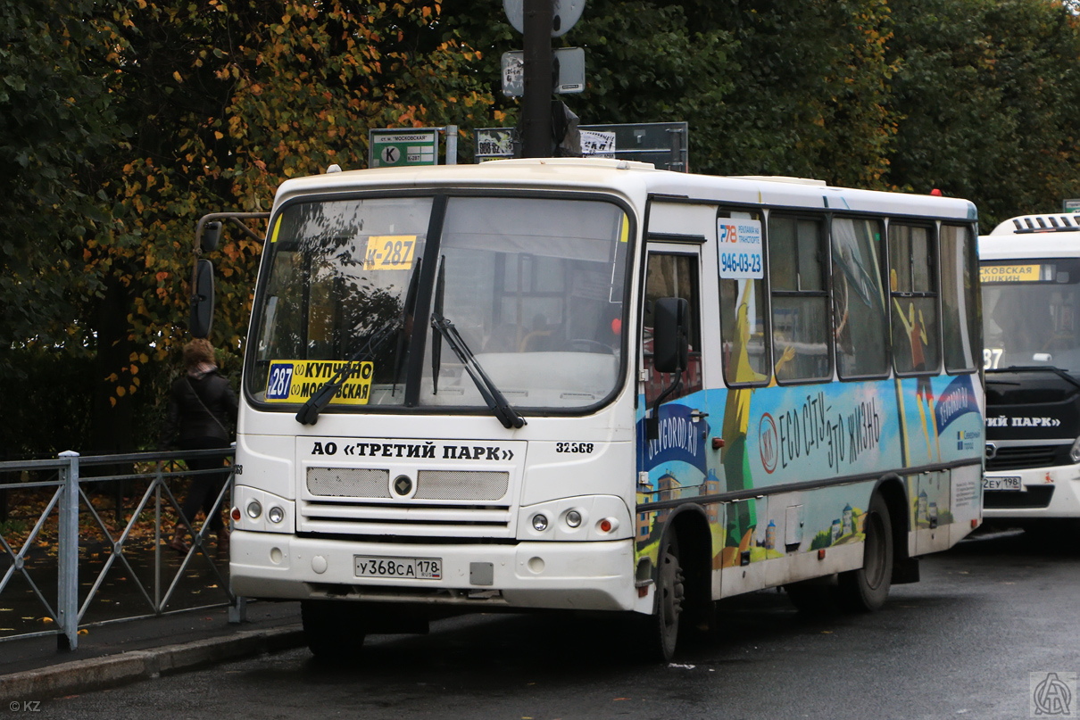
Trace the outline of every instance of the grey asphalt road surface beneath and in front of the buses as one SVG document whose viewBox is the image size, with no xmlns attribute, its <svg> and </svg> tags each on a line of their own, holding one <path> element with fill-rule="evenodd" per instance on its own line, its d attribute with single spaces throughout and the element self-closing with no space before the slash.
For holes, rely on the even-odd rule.
<svg viewBox="0 0 1080 720">
<path fill-rule="evenodd" d="M 1012 533 L 924 559 L 922 582 L 869 615 L 807 619 L 778 592 L 726 601 L 721 637 L 666 666 L 634 661 L 623 623 L 471 616 L 369 638 L 349 667 L 288 651 L 42 701 L 35 717 L 983 719 L 1036 717 L 1032 698 L 1055 717 L 1066 696 L 1057 717 L 1077 717 L 1078 610 L 1080 552 Z"/>
</svg>

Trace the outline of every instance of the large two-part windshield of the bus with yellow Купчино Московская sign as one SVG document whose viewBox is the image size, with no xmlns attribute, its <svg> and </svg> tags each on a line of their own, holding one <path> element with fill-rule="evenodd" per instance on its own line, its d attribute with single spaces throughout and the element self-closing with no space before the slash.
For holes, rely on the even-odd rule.
<svg viewBox="0 0 1080 720">
<path fill-rule="evenodd" d="M 437 316 L 510 405 L 595 406 L 621 377 L 626 222 L 610 202 L 539 196 L 286 205 L 257 293 L 247 392 L 295 408 L 354 362 L 332 407 L 487 406 L 432 332 Z"/>
</svg>

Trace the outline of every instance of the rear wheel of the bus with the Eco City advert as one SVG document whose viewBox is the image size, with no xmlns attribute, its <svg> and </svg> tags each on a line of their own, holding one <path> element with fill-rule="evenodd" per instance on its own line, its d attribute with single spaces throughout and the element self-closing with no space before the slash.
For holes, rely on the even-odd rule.
<svg viewBox="0 0 1080 720">
<path fill-rule="evenodd" d="M 870 499 L 863 530 L 863 567 L 837 578 L 837 600 L 841 608 L 854 612 L 879 609 L 892 584 L 892 521 L 878 493 Z"/>
</svg>

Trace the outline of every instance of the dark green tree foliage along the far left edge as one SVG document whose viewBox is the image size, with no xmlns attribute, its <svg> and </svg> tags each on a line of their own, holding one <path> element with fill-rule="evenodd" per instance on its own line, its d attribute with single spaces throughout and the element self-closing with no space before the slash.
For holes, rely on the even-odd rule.
<svg viewBox="0 0 1080 720">
<path fill-rule="evenodd" d="M 121 145 L 108 69 L 107 2 L 0 0 L 0 347 L 77 345 L 75 322 L 97 286 L 79 274 L 96 207 L 96 161 Z M 18 371 L 6 353 L 0 373 Z"/>
</svg>

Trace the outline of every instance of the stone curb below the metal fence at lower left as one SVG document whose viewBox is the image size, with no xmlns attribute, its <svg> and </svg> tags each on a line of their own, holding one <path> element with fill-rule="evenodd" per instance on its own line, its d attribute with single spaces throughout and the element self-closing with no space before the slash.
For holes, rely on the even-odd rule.
<svg viewBox="0 0 1080 720">
<path fill-rule="evenodd" d="M 0 677 L 0 701 L 45 699 L 56 695 L 100 690 L 156 678 L 200 665 L 292 650 L 305 643 L 297 623 L 267 630 L 232 635 L 154 650 L 133 650 Z"/>
</svg>

